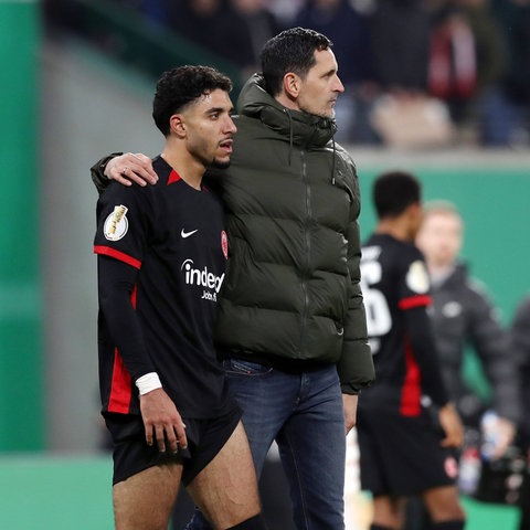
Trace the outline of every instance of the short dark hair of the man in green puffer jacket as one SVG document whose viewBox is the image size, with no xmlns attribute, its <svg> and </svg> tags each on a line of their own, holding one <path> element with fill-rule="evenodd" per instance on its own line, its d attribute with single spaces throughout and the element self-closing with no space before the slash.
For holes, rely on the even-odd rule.
<svg viewBox="0 0 530 530">
<path fill-rule="evenodd" d="M 278 95 L 288 72 L 304 80 L 315 65 L 315 52 L 331 46 L 332 42 L 326 35 L 305 28 L 292 28 L 273 36 L 261 53 L 265 89 L 273 97 Z"/>
</svg>

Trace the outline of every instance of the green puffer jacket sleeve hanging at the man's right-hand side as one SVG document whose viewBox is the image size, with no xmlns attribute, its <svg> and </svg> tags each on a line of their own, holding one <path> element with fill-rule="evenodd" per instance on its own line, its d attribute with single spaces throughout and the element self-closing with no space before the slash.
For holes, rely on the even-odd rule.
<svg viewBox="0 0 530 530">
<path fill-rule="evenodd" d="M 357 191 L 358 200 L 359 197 Z M 344 322 L 342 354 L 338 362 L 338 372 L 344 394 L 357 394 L 362 389 L 370 386 L 375 380 L 372 353 L 368 343 L 367 315 L 360 285 L 361 240 L 357 218 L 358 214 L 356 213 L 346 234 L 351 286 Z"/>
</svg>

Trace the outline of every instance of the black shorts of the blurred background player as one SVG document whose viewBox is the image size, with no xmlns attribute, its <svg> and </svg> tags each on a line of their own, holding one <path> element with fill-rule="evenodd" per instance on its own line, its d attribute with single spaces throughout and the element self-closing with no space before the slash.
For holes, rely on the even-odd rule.
<svg viewBox="0 0 530 530">
<path fill-rule="evenodd" d="M 360 409 L 357 434 L 361 487 L 373 496 L 411 496 L 456 484 L 457 460 L 439 445 L 442 433 L 426 411 L 405 417 Z"/>
</svg>

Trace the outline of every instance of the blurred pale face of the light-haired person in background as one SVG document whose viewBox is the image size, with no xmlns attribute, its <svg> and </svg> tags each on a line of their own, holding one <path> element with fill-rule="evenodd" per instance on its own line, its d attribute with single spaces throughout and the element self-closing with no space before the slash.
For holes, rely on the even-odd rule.
<svg viewBox="0 0 530 530">
<path fill-rule="evenodd" d="M 431 212 L 422 223 L 416 244 L 428 263 L 451 265 L 460 252 L 462 232 L 462 221 L 457 215 L 451 212 Z"/>
</svg>

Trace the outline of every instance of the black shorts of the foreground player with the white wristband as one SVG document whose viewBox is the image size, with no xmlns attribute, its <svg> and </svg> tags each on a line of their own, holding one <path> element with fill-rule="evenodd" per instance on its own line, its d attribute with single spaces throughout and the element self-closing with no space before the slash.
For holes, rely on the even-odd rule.
<svg viewBox="0 0 530 530">
<path fill-rule="evenodd" d="M 113 485 L 149 467 L 170 463 L 183 466 L 182 483 L 188 486 L 221 451 L 241 420 L 241 411 L 234 407 L 224 416 L 208 420 L 186 418 L 188 448 L 177 454 L 160 453 L 155 442 L 146 443 L 146 431 L 140 416 L 105 414 L 105 423 L 113 439 Z"/>
</svg>

